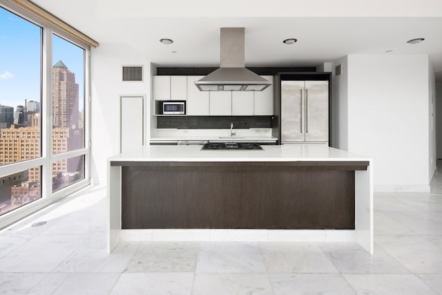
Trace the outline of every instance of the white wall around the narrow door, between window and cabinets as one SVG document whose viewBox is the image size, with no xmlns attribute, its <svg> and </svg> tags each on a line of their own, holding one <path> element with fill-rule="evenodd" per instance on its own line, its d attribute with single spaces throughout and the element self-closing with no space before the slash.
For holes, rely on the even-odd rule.
<svg viewBox="0 0 442 295">
<path fill-rule="evenodd" d="M 91 51 L 91 177 L 106 183 L 106 160 L 119 153 L 119 97 L 145 95 L 151 98 L 151 63 L 136 50 L 122 44 L 100 44 Z M 143 66 L 143 82 L 122 82 L 122 66 Z M 145 114 L 150 104 L 145 103 Z M 144 120 L 150 130 L 150 120 Z M 145 138 L 149 138 L 146 134 Z"/>
</svg>

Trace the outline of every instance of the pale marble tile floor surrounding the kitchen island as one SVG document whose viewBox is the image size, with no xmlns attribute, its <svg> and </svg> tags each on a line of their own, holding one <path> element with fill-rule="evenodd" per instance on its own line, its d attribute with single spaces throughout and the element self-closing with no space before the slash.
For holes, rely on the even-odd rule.
<svg viewBox="0 0 442 295">
<path fill-rule="evenodd" d="M 121 242 L 106 254 L 105 195 L 90 187 L 3 229 L 0 294 L 442 294 L 442 171 L 432 193 L 375 194 L 374 256 L 332 242 Z"/>
</svg>

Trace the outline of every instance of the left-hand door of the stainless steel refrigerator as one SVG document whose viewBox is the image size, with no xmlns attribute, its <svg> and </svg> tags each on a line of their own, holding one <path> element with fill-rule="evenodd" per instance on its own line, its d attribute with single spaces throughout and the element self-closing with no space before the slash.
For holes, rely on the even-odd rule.
<svg viewBox="0 0 442 295">
<path fill-rule="evenodd" d="M 305 140 L 304 81 L 281 81 L 281 140 Z"/>
</svg>

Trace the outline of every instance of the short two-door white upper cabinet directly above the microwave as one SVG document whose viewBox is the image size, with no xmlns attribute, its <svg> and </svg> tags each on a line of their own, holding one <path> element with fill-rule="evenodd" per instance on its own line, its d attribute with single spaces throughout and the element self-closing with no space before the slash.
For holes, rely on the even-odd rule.
<svg viewBox="0 0 442 295">
<path fill-rule="evenodd" d="M 187 76 L 153 76 L 155 100 L 186 100 Z"/>
</svg>

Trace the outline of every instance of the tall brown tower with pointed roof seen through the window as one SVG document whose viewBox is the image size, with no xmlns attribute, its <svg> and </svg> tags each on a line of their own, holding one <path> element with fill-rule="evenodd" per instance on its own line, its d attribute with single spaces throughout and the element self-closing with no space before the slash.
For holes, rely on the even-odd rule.
<svg viewBox="0 0 442 295">
<path fill-rule="evenodd" d="M 52 113 L 54 128 L 76 129 L 79 125 L 78 91 L 75 74 L 63 61 L 58 61 L 52 70 Z"/>
</svg>

